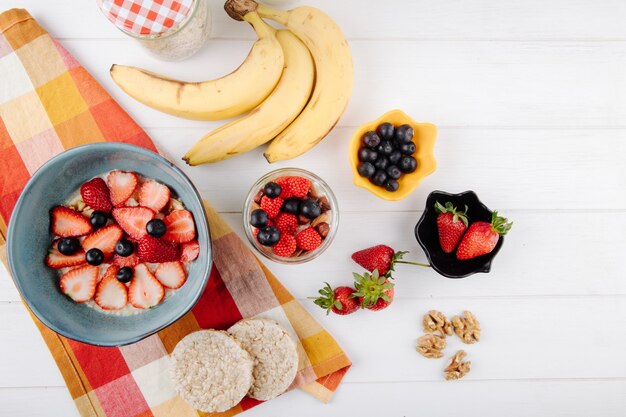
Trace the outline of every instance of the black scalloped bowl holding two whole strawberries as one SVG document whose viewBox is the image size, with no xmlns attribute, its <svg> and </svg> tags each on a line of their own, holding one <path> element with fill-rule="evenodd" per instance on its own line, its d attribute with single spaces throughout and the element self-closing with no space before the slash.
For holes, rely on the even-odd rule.
<svg viewBox="0 0 626 417">
<path fill-rule="evenodd" d="M 447 278 L 465 278 L 491 271 L 512 224 L 473 191 L 433 191 L 415 226 L 415 237 L 435 271 Z"/>
</svg>

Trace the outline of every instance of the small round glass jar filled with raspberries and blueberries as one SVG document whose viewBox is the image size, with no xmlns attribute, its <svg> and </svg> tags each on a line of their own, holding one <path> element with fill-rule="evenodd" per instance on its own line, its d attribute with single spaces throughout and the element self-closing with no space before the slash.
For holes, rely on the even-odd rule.
<svg viewBox="0 0 626 417">
<path fill-rule="evenodd" d="M 337 199 L 328 184 L 298 168 L 278 169 L 259 178 L 243 208 L 248 240 L 279 263 L 317 258 L 330 246 L 338 224 Z"/>
</svg>

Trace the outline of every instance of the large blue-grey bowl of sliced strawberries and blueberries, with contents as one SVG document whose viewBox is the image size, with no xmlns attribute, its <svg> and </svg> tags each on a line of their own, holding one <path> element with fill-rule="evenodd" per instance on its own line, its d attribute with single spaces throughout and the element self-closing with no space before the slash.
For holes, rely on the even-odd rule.
<svg viewBox="0 0 626 417">
<path fill-rule="evenodd" d="M 7 257 L 29 309 L 55 332 L 121 346 L 170 325 L 211 270 L 202 199 L 149 150 L 67 150 L 29 180 L 9 222 Z"/>
</svg>

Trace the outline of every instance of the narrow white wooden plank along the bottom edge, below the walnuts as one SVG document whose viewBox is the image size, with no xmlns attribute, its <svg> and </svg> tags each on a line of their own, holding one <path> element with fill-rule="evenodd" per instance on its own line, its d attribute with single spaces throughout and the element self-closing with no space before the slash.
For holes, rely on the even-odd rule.
<svg viewBox="0 0 626 417">
<path fill-rule="evenodd" d="M 591 416 L 621 417 L 623 380 L 344 383 L 330 404 L 293 391 L 246 416 Z M 33 399 L 36 398 L 36 401 Z M 374 399 L 372 399 L 374 398 Z M 358 399 L 358 400 L 355 400 Z M 24 404 L 28 404 L 25 407 Z M 0 388 L 0 410 L 11 417 L 78 416 L 64 387 Z"/>
</svg>

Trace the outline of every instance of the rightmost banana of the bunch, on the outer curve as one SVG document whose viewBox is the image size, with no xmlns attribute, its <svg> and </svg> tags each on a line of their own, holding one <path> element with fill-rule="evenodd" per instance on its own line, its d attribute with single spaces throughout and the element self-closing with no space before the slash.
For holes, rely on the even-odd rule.
<svg viewBox="0 0 626 417">
<path fill-rule="evenodd" d="M 309 103 L 265 151 L 265 158 L 276 162 L 305 153 L 337 124 L 352 94 L 352 55 L 341 29 L 321 10 L 303 6 L 281 11 L 258 4 L 256 11 L 296 34 L 315 61 L 315 88 Z"/>
</svg>

